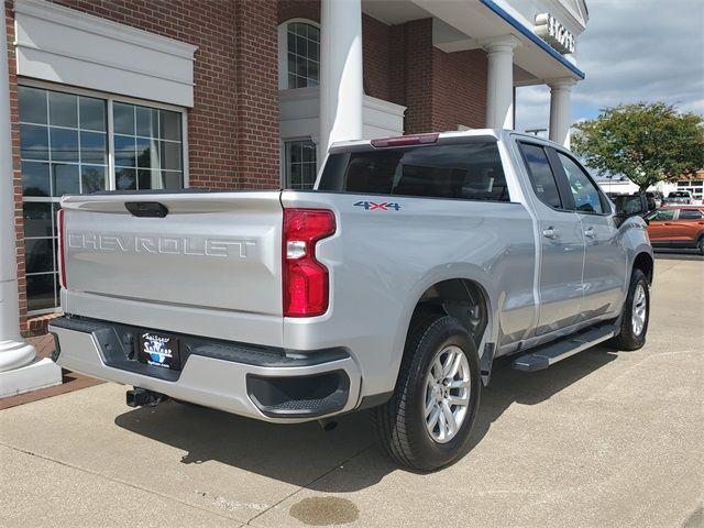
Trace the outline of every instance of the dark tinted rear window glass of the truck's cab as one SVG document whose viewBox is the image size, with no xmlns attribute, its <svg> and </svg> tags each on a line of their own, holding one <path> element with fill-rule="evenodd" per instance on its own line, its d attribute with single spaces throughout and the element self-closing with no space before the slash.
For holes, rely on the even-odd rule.
<svg viewBox="0 0 704 528">
<path fill-rule="evenodd" d="M 495 142 L 331 154 L 318 189 L 466 200 L 509 199 Z"/>
</svg>

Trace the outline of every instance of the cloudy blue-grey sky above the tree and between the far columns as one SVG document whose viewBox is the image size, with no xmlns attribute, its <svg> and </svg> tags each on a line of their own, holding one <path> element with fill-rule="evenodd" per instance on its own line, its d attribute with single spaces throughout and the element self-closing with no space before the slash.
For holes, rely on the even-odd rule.
<svg viewBox="0 0 704 528">
<path fill-rule="evenodd" d="M 576 43 L 586 78 L 572 88 L 572 121 L 622 102 L 666 101 L 704 114 L 703 0 L 586 0 Z M 519 88 L 516 129 L 547 128 L 550 89 Z"/>
</svg>

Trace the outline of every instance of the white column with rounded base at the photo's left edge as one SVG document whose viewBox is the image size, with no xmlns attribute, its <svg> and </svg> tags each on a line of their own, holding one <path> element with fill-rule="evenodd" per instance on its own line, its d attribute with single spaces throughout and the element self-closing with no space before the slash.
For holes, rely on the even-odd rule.
<svg viewBox="0 0 704 528">
<path fill-rule="evenodd" d="M 61 383 L 61 369 L 38 360 L 20 334 L 18 260 L 14 237 L 10 79 L 6 16 L 0 23 L 0 397 Z"/>
</svg>

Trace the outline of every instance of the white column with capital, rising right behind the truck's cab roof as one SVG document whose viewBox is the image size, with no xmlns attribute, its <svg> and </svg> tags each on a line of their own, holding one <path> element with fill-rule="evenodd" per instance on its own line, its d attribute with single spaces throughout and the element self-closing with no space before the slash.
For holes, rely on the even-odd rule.
<svg viewBox="0 0 704 528">
<path fill-rule="evenodd" d="M 486 128 L 514 128 L 514 48 L 520 41 L 513 35 L 484 40 L 488 57 L 486 73 Z"/>
</svg>

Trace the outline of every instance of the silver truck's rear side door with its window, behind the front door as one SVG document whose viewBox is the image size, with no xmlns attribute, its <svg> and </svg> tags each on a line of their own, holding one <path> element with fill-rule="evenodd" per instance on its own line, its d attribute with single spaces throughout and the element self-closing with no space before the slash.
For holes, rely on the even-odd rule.
<svg viewBox="0 0 704 528">
<path fill-rule="evenodd" d="M 579 320 L 583 296 L 584 233 L 580 217 L 562 198 L 563 193 L 559 189 L 546 148 L 525 142 L 520 142 L 519 147 L 539 219 L 540 312 L 536 334 L 541 336 Z"/>
</svg>

